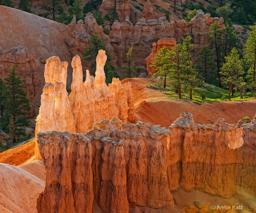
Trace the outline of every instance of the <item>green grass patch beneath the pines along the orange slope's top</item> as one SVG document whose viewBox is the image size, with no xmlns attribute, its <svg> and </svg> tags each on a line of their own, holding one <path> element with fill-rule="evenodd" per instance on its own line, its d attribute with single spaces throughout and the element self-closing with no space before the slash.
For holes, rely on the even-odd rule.
<svg viewBox="0 0 256 213">
<path fill-rule="evenodd" d="M 159 86 L 159 84 L 154 83 L 155 86 Z M 204 102 L 206 103 L 212 103 L 212 102 L 220 102 L 220 101 L 228 101 L 228 90 L 221 89 L 217 86 L 214 86 L 212 84 L 204 83 L 201 87 L 201 91 L 193 91 L 192 100 L 189 99 L 189 93 L 188 92 L 182 92 L 182 100 L 183 101 L 192 101 L 196 104 L 202 104 Z M 172 87 L 166 87 L 165 89 L 162 88 L 162 93 L 167 95 L 166 98 L 179 100 L 178 94 L 175 92 L 174 88 Z M 205 99 L 202 99 L 201 94 L 205 95 Z M 240 99 L 239 92 L 234 92 L 234 96 L 231 96 L 231 101 L 244 101 L 244 100 L 250 100 L 255 99 L 256 93 L 253 93 L 253 96 L 251 96 L 251 93 L 247 93 L 246 95 L 243 95 L 243 99 Z"/>
</svg>

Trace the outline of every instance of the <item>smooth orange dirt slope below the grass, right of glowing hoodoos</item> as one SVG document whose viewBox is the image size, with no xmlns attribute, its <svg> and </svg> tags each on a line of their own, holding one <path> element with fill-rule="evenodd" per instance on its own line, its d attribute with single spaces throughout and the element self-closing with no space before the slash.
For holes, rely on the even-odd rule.
<svg viewBox="0 0 256 213">
<path fill-rule="evenodd" d="M 126 78 L 122 83 L 130 81 L 135 100 L 135 122 L 142 121 L 160 124 L 168 128 L 182 112 L 193 114 L 196 123 L 211 124 L 207 120 L 216 122 L 218 118 L 225 118 L 227 123 L 236 123 L 241 118 L 252 118 L 256 111 L 256 100 L 223 101 L 203 103 L 185 102 L 167 99 L 166 95 L 155 89 L 147 88 L 151 84 L 147 78 Z"/>
</svg>

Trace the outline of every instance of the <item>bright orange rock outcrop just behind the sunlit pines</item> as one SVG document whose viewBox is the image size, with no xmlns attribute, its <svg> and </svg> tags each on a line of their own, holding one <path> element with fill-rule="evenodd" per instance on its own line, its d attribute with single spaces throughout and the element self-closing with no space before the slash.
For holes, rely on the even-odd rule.
<svg viewBox="0 0 256 213">
<path fill-rule="evenodd" d="M 148 77 L 150 77 L 153 73 L 157 72 L 156 69 L 150 67 L 150 65 L 153 63 L 156 57 L 156 53 L 166 46 L 169 50 L 171 50 L 171 47 L 174 47 L 176 44 L 176 39 L 175 38 L 161 38 L 157 42 L 157 49 L 156 49 L 156 43 L 153 43 L 153 49 L 150 55 L 145 59 L 147 63 L 147 72 L 148 72 Z"/>
</svg>

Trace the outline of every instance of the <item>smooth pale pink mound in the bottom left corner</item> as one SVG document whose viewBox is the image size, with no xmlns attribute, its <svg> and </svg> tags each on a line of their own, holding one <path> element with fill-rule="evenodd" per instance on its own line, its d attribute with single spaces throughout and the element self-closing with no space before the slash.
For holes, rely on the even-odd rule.
<svg viewBox="0 0 256 213">
<path fill-rule="evenodd" d="M 0 210 L 36 213 L 36 199 L 45 183 L 25 170 L 0 163 Z M 9 211 L 8 211 L 9 210 Z"/>
</svg>

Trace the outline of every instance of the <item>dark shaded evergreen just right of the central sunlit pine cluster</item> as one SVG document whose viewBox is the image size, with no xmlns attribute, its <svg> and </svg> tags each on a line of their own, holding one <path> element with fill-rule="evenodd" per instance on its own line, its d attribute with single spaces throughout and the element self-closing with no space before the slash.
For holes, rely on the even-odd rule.
<svg viewBox="0 0 256 213">
<path fill-rule="evenodd" d="M 217 80 L 215 71 L 217 66 L 212 51 L 208 47 L 203 47 L 198 55 L 196 60 L 198 61 L 199 74 L 203 77 L 205 83 L 214 84 Z"/>
</svg>

